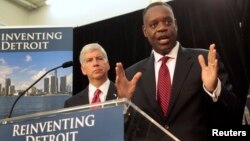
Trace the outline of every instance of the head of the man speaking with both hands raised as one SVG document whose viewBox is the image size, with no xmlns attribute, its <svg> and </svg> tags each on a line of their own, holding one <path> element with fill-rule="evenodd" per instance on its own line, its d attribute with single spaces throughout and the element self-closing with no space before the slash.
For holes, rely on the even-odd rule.
<svg viewBox="0 0 250 141">
<path fill-rule="evenodd" d="M 143 33 L 153 49 L 165 55 L 176 44 L 177 24 L 169 7 L 158 5 L 148 9 L 143 18 Z"/>
</svg>

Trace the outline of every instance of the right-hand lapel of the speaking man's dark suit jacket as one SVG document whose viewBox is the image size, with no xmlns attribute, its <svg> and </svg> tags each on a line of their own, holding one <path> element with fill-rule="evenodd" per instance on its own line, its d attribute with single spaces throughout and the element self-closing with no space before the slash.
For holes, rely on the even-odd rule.
<svg viewBox="0 0 250 141">
<path fill-rule="evenodd" d="M 173 114 L 171 114 L 171 111 L 173 110 L 174 104 L 179 97 L 180 91 L 182 90 L 184 81 L 190 71 L 190 68 L 192 67 L 194 59 L 197 59 L 185 52 L 187 52 L 187 50 L 180 46 L 172 82 L 172 92 L 168 114 L 170 117 L 173 116 Z"/>
</svg>

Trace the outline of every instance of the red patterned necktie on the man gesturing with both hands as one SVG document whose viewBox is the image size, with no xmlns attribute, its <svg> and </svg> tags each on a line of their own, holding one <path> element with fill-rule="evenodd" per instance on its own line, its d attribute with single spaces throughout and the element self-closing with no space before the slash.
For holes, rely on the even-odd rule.
<svg viewBox="0 0 250 141">
<path fill-rule="evenodd" d="M 157 87 L 157 98 L 162 108 L 164 116 L 167 117 L 167 110 L 171 94 L 171 79 L 168 67 L 166 65 L 169 57 L 165 56 L 161 58 L 161 67 L 158 75 L 158 87 Z"/>
</svg>

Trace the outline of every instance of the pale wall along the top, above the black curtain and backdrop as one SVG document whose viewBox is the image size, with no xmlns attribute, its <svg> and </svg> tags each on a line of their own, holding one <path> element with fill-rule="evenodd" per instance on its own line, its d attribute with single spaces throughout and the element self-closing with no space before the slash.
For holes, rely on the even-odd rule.
<svg viewBox="0 0 250 141">
<path fill-rule="evenodd" d="M 1 0 L 0 23 L 81 26 L 142 9 L 153 1 L 157 0 L 54 0 L 48 6 L 27 11 Z"/>
</svg>

